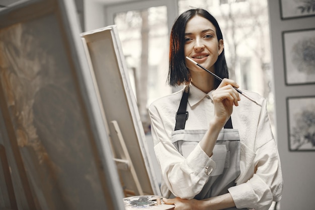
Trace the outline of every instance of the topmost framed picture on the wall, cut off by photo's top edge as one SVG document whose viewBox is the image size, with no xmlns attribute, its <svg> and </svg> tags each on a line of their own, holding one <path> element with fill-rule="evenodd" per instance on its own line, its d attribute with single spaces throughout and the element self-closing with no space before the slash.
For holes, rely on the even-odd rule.
<svg viewBox="0 0 315 210">
<path fill-rule="evenodd" d="M 309 0 L 279 0 L 281 19 L 315 15 L 315 2 Z"/>
</svg>

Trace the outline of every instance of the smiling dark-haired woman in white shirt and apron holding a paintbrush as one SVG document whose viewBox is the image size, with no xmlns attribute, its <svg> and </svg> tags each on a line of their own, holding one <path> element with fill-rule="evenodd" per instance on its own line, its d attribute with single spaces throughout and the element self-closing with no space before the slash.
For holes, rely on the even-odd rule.
<svg viewBox="0 0 315 210">
<path fill-rule="evenodd" d="M 216 80 L 185 57 L 223 79 Z M 169 83 L 183 90 L 149 106 L 161 191 L 175 209 L 268 209 L 282 192 L 280 159 L 266 101 L 241 98 L 228 78 L 221 30 L 203 9 L 173 25 Z M 193 199 L 194 198 L 194 199 Z"/>
</svg>

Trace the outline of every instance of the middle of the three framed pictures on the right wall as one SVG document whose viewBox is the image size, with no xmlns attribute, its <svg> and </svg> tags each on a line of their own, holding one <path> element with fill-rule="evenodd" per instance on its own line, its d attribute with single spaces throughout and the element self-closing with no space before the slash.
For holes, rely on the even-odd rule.
<svg viewBox="0 0 315 210">
<path fill-rule="evenodd" d="M 315 29 L 282 32 L 286 85 L 315 83 Z"/>
</svg>

